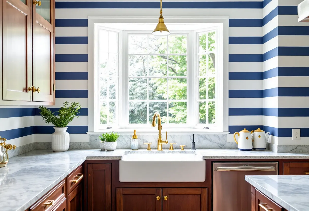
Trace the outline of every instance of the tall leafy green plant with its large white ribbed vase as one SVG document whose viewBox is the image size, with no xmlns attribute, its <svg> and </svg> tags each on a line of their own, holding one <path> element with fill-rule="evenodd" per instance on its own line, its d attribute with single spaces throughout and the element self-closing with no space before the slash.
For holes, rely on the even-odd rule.
<svg viewBox="0 0 309 211">
<path fill-rule="evenodd" d="M 67 151 L 70 147 L 70 135 L 66 129 L 68 129 L 68 124 L 77 117 L 81 106 L 76 102 L 72 102 L 70 106 L 68 102 L 64 102 L 57 112 L 52 112 L 45 106 L 39 106 L 39 109 L 43 120 L 55 126 L 55 132 L 52 134 L 52 150 L 54 152 Z"/>
</svg>

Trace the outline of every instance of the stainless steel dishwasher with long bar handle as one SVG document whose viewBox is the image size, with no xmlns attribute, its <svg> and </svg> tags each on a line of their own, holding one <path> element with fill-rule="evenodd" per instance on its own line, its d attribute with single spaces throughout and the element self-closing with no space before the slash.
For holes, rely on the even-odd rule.
<svg viewBox="0 0 309 211">
<path fill-rule="evenodd" d="M 278 163 L 213 163 L 213 211 L 251 210 L 251 185 L 245 175 L 278 175 Z"/>
</svg>

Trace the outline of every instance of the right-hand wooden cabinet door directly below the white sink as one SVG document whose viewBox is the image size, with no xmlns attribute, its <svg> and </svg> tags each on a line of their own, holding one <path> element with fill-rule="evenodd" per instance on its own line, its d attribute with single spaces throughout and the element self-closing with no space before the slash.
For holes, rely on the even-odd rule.
<svg viewBox="0 0 309 211">
<path fill-rule="evenodd" d="M 163 211 L 207 211 L 207 188 L 163 188 Z"/>
</svg>

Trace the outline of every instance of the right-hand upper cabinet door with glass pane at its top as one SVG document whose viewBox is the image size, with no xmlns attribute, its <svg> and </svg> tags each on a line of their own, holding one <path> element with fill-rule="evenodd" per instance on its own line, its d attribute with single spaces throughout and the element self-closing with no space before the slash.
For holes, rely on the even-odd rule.
<svg viewBox="0 0 309 211">
<path fill-rule="evenodd" d="M 42 3 L 32 4 L 32 43 L 33 43 L 33 101 L 54 102 L 55 84 L 55 1 L 41 0 Z"/>
</svg>

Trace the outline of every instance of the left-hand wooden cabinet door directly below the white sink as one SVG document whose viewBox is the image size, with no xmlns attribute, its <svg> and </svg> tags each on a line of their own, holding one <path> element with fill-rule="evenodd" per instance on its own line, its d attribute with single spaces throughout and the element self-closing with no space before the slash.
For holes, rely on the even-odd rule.
<svg viewBox="0 0 309 211">
<path fill-rule="evenodd" d="M 161 188 L 116 188 L 117 211 L 161 211 Z"/>
</svg>

